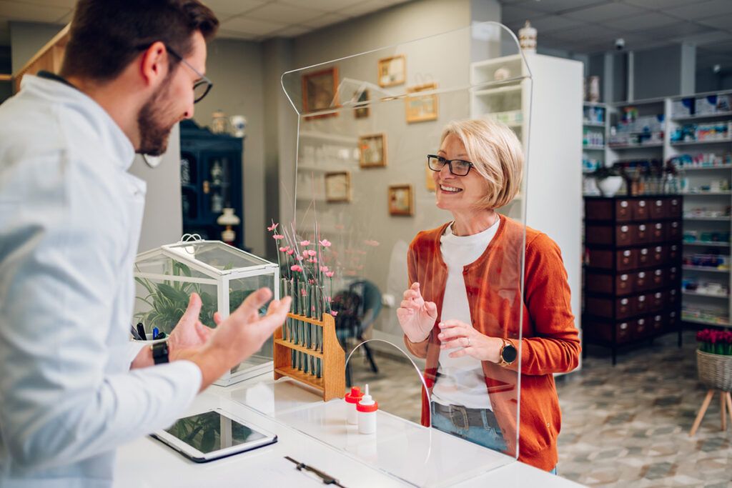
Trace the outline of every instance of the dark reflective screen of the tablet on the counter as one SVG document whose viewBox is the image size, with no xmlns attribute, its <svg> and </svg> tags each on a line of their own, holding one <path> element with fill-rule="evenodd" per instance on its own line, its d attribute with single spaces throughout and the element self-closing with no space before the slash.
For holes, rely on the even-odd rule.
<svg viewBox="0 0 732 488">
<path fill-rule="evenodd" d="M 264 434 L 216 411 L 180 418 L 165 432 L 203 454 L 266 438 Z"/>
</svg>

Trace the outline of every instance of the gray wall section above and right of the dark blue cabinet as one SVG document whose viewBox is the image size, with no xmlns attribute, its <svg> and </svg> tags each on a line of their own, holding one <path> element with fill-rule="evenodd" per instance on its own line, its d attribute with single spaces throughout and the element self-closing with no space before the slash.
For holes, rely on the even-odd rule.
<svg viewBox="0 0 732 488">
<path fill-rule="evenodd" d="M 262 46 L 241 40 L 214 40 L 209 45 L 206 75 L 214 83 L 209 94 L 195 105 L 194 120 L 207 127 L 212 113 L 247 117 L 244 140 L 244 244 L 254 254 L 265 255 L 264 124 L 265 110 Z"/>
</svg>

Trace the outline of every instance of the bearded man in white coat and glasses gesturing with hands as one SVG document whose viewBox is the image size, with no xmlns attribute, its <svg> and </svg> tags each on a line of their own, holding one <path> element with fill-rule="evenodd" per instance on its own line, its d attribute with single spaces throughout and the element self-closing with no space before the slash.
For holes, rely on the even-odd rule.
<svg viewBox="0 0 732 488">
<path fill-rule="evenodd" d="M 0 107 L 0 486 L 112 484 L 115 448 L 166 427 L 280 326 L 253 293 L 214 330 L 190 304 L 165 348 L 130 350 L 145 187 L 210 88 L 218 21 L 195 0 L 81 0 L 60 76 Z M 153 363 L 170 364 L 153 366 Z"/>
</svg>

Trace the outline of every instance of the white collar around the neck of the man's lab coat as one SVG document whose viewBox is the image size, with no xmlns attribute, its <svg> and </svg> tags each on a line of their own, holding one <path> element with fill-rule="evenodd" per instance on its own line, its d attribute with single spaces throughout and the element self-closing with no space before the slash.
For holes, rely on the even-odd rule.
<svg viewBox="0 0 732 488">
<path fill-rule="evenodd" d="M 124 171 L 130 169 L 135 159 L 135 148 L 122 128 L 111 118 L 94 99 L 72 86 L 57 80 L 39 78 L 34 75 L 23 76 L 20 88 L 34 97 L 49 100 L 75 110 L 87 121 L 94 132 L 99 135 L 102 144 L 111 150 L 115 164 Z"/>
</svg>

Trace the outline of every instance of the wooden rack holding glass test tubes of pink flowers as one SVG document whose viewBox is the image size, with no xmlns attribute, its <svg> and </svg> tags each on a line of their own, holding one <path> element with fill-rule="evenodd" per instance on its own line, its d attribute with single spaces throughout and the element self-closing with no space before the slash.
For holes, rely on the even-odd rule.
<svg viewBox="0 0 732 488">
<path fill-rule="evenodd" d="M 284 337 L 286 334 L 287 337 Z M 346 394 L 346 353 L 335 335 L 335 320 L 287 314 L 275 331 L 275 380 L 287 376 L 323 392 L 323 401 Z"/>
</svg>

